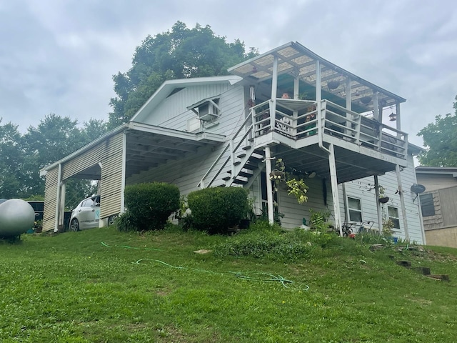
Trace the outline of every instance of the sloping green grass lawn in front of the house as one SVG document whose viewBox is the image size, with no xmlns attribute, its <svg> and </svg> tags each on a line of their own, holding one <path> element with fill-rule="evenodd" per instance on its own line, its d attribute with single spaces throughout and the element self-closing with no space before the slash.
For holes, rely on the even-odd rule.
<svg viewBox="0 0 457 343">
<path fill-rule="evenodd" d="M 399 267 L 388 255 L 449 274 L 451 282 Z M 0 342 L 457 337 L 455 249 L 370 252 L 360 242 L 308 233 L 221 237 L 108 227 L 0 242 L 0 262 Z"/>
</svg>

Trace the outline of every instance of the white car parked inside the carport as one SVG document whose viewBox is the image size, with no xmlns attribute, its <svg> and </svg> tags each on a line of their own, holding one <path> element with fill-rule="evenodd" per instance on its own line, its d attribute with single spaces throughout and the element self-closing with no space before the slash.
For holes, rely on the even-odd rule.
<svg viewBox="0 0 457 343">
<path fill-rule="evenodd" d="M 79 231 L 99 227 L 100 221 L 100 196 L 94 195 L 84 199 L 71 212 L 70 231 Z"/>
</svg>

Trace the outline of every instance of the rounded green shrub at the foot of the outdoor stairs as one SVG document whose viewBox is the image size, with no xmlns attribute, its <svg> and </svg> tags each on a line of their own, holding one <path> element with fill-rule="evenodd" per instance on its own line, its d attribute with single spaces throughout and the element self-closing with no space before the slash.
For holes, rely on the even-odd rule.
<svg viewBox="0 0 457 343">
<path fill-rule="evenodd" d="M 248 212 L 248 192 L 241 187 L 200 189 L 187 196 L 191 225 L 210 234 L 226 233 Z"/>
</svg>

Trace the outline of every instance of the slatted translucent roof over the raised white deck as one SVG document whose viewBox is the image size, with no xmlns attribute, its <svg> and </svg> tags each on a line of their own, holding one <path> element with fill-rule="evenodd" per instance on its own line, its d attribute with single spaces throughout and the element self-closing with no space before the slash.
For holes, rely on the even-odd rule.
<svg viewBox="0 0 457 343">
<path fill-rule="evenodd" d="M 298 42 L 244 61 L 229 69 L 241 76 L 246 84 L 271 82 L 271 99 L 277 89 L 290 89 L 293 79 L 293 99 L 327 99 L 358 113 L 373 111 L 373 119 L 382 122 L 382 109 L 396 107 L 396 129 L 401 130 L 399 104 L 406 99 L 386 91 L 361 77 L 323 59 Z"/>
</svg>

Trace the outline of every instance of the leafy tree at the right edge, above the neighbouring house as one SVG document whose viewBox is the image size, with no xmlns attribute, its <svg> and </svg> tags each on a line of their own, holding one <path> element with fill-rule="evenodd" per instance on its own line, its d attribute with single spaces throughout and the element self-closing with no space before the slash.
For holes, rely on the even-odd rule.
<svg viewBox="0 0 457 343">
<path fill-rule="evenodd" d="M 419 154 L 423 166 L 457 166 L 457 96 L 454 114 L 438 115 L 435 122 L 419 131 L 426 151 Z"/>
</svg>

